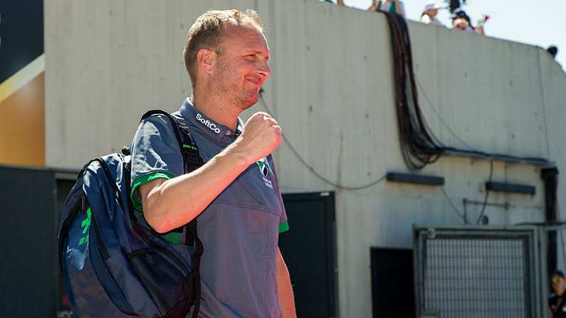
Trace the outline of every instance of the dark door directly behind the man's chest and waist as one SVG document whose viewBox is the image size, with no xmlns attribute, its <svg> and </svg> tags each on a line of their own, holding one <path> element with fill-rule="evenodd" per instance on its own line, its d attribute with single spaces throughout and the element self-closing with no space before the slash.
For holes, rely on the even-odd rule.
<svg viewBox="0 0 566 318">
<path fill-rule="evenodd" d="M 284 194 L 289 230 L 279 247 L 287 263 L 297 317 L 336 317 L 335 203 L 332 192 Z"/>
</svg>

